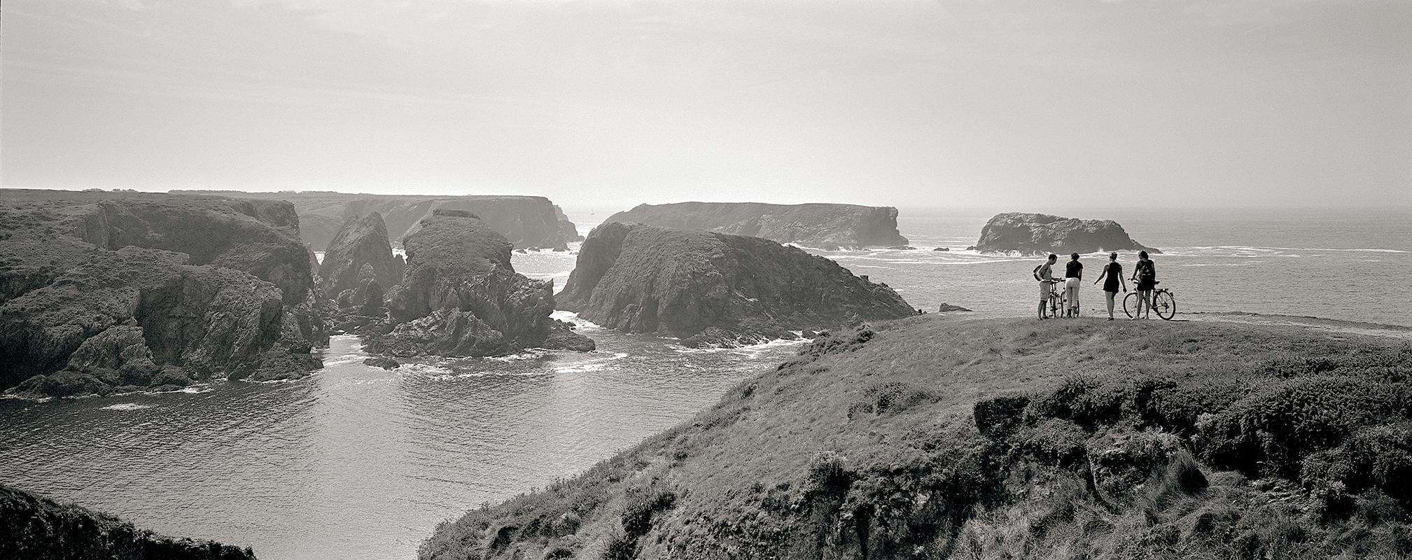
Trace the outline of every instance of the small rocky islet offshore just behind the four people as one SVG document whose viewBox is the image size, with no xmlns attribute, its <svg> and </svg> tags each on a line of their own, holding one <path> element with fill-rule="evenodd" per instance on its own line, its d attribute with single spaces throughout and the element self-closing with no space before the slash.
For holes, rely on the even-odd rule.
<svg viewBox="0 0 1412 560">
<path fill-rule="evenodd" d="M 1128 237 L 1128 233 L 1113 220 L 1079 220 L 1049 214 L 1027 214 L 1019 212 L 995 214 L 980 230 L 977 251 L 1019 251 L 1041 252 L 1097 252 L 1097 251 L 1158 251 Z"/>
</svg>

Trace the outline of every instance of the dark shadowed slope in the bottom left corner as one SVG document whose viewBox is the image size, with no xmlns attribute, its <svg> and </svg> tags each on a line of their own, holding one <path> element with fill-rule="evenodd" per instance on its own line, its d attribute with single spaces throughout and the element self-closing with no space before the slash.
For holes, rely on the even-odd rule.
<svg viewBox="0 0 1412 560">
<path fill-rule="evenodd" d="M 0 485 L 0 559 L 254 560 L 250 549 L 172 539 L 119 518 Z"/>
</svg>

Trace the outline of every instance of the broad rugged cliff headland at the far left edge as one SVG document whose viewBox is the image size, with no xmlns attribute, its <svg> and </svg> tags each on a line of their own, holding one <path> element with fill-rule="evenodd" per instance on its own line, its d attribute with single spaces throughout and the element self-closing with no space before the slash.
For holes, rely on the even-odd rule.
<svg viewBox="0 0 1412 560">
<path fill-rule="evenodd" d="M 0 388 L 71 396 L 305 375 L 326 334 L 297 236 L 288 203 L 7 190 Z"/>
</svg>

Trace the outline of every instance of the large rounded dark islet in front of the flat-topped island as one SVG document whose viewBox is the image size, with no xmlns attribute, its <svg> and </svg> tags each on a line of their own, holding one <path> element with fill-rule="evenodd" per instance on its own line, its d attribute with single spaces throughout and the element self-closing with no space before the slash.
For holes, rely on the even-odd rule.
<svg viewBox="0 0 1412 560">
<path fill-rule="evenodd" d="M 885 284 L 775 241 L 606 223 L 583 241 L 559 306 L 609 329 L 686 346 L 791 339 L 915 310 Z"/>
</svg>

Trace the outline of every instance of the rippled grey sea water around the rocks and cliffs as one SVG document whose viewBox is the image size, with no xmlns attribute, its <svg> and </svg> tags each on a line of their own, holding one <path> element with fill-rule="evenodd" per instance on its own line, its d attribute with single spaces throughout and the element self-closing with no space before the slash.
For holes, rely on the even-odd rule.
<svg viewBox="0 0 1412 560">
<path fill-rule="evenodd" d="M 610 212 L 570 217 L 586 231 Z M 907 210 L 916 250 L 818 251 L 914 305 L 1028 316 L 1038 260 L 966 251 L 993 214 Z M 1155 255 L 1179 313 L 1257 312 L 1412 326 L 1406 214 L 1076 213 L 1115 219 Z M 947 247 L 949 251 L 933 251 Z M 514 254 L 562 286 L 572 252 Z M 1121 262 L 1131 274 L 1134 255 Z M 1106 255 L 1083 255 L 1096 279 Z M 1091 282 L 1091 279 L 1089 282 Z M 1084 312 L 1101 293 L 1086 284 Z M 578 320 L 572 315 L 559 317 Z M 363 365 L 335 337 L 325 368 L 291 382 L 174 394 L 0 401 L 0 482 L 175 536 L 251 546 L 264 560 L 411 559 L 441 521 L 570 477 L 683 422 L 792 344 L 689 350 L 579 322 L 594 353 Z"/>
</svg>

